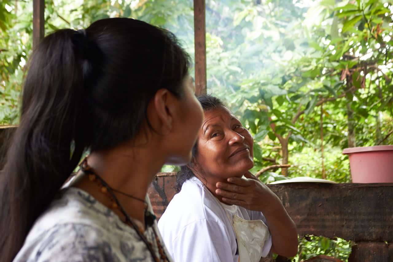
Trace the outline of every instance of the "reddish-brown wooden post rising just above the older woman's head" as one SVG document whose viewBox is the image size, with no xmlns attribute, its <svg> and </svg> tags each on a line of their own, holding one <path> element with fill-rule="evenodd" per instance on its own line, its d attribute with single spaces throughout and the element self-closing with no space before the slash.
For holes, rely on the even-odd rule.
<svg viewBox="0 0 393 262">
<path fill-rule="evenodd" d="M 194 0 L 195 93 L 206 94 L 205 0 Z"/>
</svg>

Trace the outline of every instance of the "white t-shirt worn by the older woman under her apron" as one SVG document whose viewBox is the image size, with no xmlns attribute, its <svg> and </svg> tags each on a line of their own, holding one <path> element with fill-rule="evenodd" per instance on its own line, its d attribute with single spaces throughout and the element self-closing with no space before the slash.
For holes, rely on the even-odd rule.
<svg viewBox="0 0 393 262">
<path fill-rule="evenodd" d="M 238 262 L 236 234 L 224 208 L 244 220 L 262 220 L 262 212 L 221 205 L 196 177 L 186 181 L 158 221 L 158 229 L 175 262 Z M 268 255 L 272 238 L 265 242 Z"/>
</svg>

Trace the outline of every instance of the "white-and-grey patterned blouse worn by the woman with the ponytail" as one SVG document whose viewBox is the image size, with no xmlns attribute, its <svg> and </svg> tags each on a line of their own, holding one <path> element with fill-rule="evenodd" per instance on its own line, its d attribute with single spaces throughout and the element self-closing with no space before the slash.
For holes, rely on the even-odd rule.
<svg viewBox="0 0 393 262">
<path fill-rule="evenodd" d="M 152 212 L 149 197 L 146 200 Z M 153 230 L 163 243 L 156 221 L 146 227 L 144 234 L 160 258 Z M 164 250 L 169 256 L 165 247 Z M 60 191 L 48 210 L 35 221 L 13 261 L 150 262 L 154 258 L 137 232 L 112 210 L 87 192 L 68 187 Z"/>
</svg>

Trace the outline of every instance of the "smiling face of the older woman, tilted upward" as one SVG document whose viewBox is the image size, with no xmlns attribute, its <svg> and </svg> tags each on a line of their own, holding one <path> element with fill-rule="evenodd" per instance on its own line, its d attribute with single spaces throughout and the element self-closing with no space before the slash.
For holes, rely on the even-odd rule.
<svg viewBox="0 0 393 262">
<path fill-rule="evenodd" d="M 253 138 L 227 108 L 205 112 L 196 161 L 202 176 L 241 177 L 253 165 Z"/>
</svg>

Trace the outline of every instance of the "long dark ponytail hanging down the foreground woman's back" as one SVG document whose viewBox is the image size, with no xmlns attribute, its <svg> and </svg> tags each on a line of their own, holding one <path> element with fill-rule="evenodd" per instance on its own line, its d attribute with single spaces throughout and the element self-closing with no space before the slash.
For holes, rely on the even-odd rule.
<svg viewBox="0 0 393 262">
<path fill-rule="evenodd" d="M 24 83 L 20 125 L 0 175 L 0 261 L 11 261 L 34 221 L 88 146 L 81 122 L 91 70 L 83 32 L 59 30 L 34 51 Z"/>
</svg>

